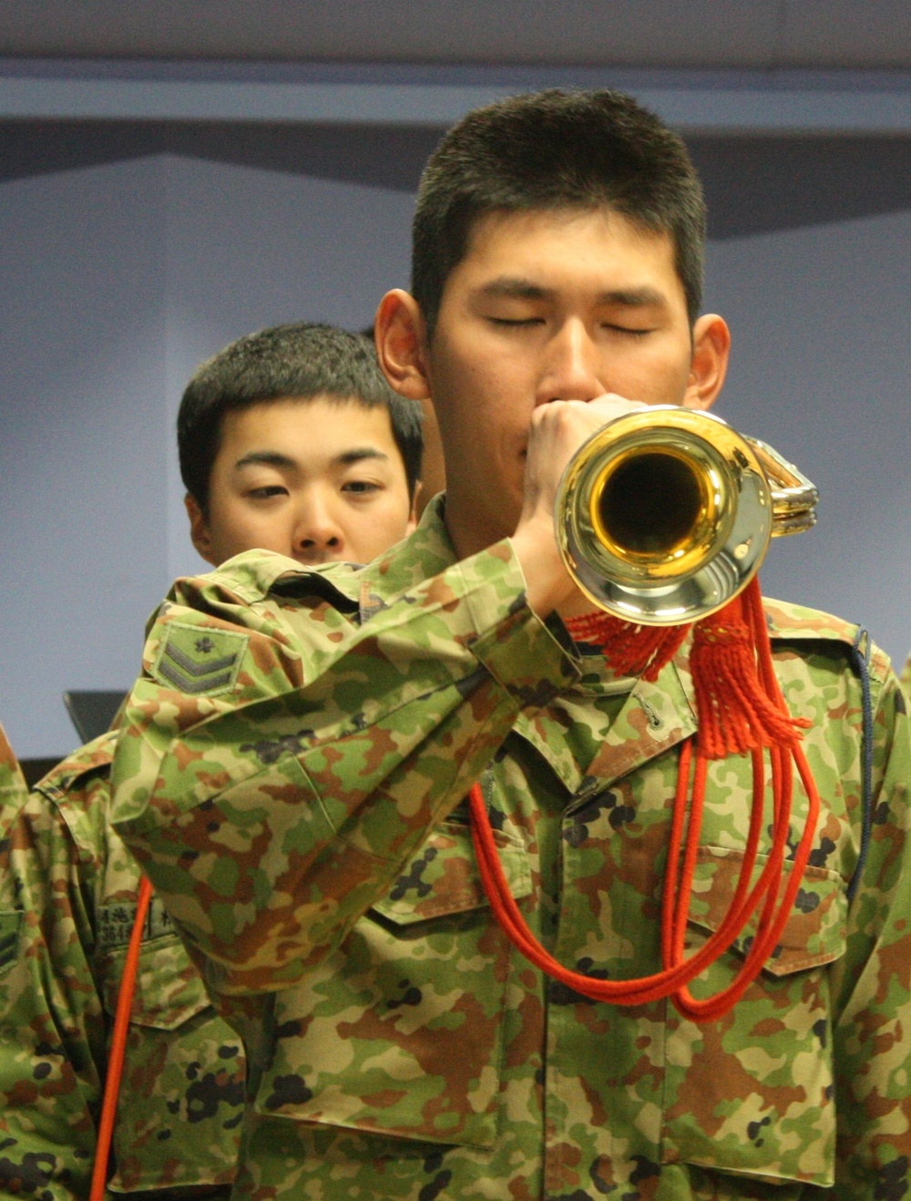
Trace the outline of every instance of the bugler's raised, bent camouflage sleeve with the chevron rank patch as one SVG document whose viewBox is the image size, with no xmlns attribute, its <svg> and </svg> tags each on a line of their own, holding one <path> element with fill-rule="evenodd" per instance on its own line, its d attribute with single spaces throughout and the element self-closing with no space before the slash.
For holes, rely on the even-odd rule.
<svg viewBox="0 0 911 1201">
<path fill-rule="evenodd" d="M 114 766 L 114 824 L 209 986 L 235 994 L 300 979 L 336 946 L 517 716 L 576 671 L 525 603 L 509 543 L 360 628 L 312 598 L 241 592 L 215 573 L 174 594 Z"/>
</svg>

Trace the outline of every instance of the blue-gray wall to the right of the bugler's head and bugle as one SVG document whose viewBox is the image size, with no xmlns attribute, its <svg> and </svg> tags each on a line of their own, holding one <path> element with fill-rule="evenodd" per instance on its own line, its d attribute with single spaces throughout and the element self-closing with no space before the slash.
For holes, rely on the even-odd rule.
<svg viewBox="0 0 911 1201">
<path fill-rule="evenodd" d="M 717 411 L 817 484 L 819 525 L 773 543 L 769 594 L 911 650 L 911 213 L 715 243 L 707 300 L 733 330 Z"/>
</svg>

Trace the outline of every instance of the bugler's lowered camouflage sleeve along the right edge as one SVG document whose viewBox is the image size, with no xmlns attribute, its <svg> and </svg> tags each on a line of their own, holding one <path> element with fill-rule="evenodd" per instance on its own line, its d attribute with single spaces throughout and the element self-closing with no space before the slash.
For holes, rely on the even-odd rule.
<svg viewBox="0 0 911 1201">
<path fill-rule="evenodd" d="M 879 658 L 869 854 L 832 976 L 839 1201 L 898 1201 L 911 1182 L 911 735 Z"/>
</svg>

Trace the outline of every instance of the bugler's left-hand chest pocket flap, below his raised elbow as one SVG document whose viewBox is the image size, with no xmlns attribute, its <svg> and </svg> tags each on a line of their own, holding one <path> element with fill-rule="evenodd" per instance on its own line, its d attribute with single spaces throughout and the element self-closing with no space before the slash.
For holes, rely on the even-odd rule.
<svg viewBox="0 0 911 1201">
<path fill-rule="evenodd" d="M 532 891 L 532 873 L 523 843 L 501 830 L 493 837 L 509 890 L 514 897 Z M 444 821 L 431 832 L 372 912 L 401 926 L 487 904 L 472 846 L 471 829 Z"/>
</svg>

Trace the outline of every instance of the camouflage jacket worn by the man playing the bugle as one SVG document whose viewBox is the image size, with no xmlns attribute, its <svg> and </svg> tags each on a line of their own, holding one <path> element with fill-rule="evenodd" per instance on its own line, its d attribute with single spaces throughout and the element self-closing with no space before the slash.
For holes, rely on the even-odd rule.
<svg viewBox="0 0 911 1201">
<path fill-rule="evenodd" d="M 481 778 L 513 894 L 561 962 L 655 972 L 695 729 L 685 652 L 654 685 L 611 680 L 528 609 L 508 540 L 454 562 L 433 510 L 360 570 L 252 554 L 178 582 L 127 706 L 114 821 L 246 1041 L 238 1197 L 905 1195 L 905 704 L 875 652 L 871 837 L 849 904 L 855 629 L 767 611 L 823 809 L 778 954 L 697 1026 L 531 967 L 492 919 L 462 803 Z M 745 759 L 709 770 L 693 946 L 726 912 L 750 785 Z M 805 805 L 796 787 L 795 831 Z"/>
</svg>

